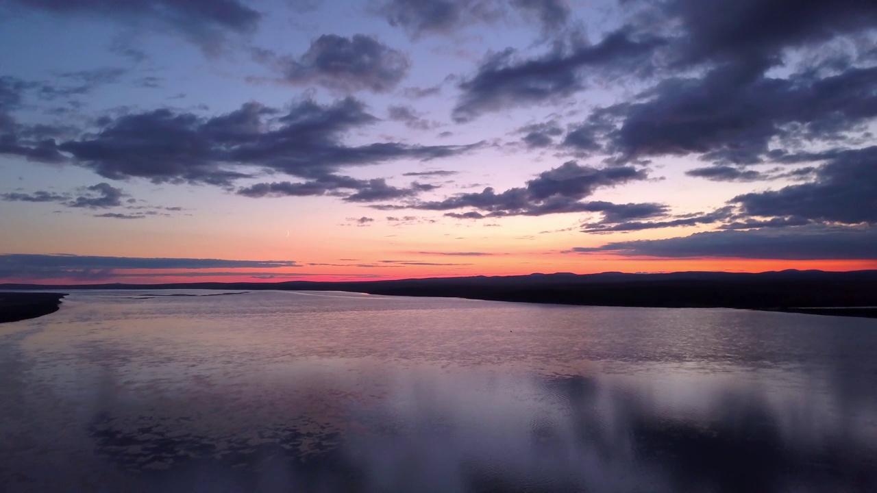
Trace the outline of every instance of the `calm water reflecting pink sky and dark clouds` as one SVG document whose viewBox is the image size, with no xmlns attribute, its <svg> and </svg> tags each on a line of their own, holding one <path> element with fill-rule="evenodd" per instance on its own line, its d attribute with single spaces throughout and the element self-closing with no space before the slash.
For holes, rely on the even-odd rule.
<svg viewBox="0 0 877 493">
<path fill-rule="evenodd" d="M 877 491 L 877 320 L 215 293 L 0 325 L 0 491 Z"/>
</svg>

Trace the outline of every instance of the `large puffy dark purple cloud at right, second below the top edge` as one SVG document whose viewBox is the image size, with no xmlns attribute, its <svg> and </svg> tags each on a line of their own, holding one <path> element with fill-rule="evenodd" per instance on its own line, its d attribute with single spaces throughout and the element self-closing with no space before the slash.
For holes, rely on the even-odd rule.
<svg viewBox="0 0 877 493">
<path fill-rule="evenodd" d="M 610 150 L 626 159 L 703 154 L 709 161 L 750 164 L 768 153 L 771 139 L 842 139 L 842 132 L 877 117 L 877 68 L 788 79 L 744 69 L 729 65 L 701 79 L 667 79 L 645 93 L 645 102 L 617 104 L 580 128 L 602 132 L 605 119 L 615 118 L 619 125 L 606 137 Z"/>
</svg>

